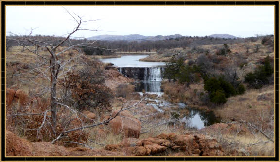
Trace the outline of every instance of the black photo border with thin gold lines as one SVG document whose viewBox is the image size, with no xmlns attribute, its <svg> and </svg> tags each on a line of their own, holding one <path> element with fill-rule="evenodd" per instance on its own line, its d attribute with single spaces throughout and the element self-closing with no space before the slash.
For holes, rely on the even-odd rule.
<svg viewBox="0 0 280 162">
<path fill-rule="evenodd" d="M 274 6 L 274 156 L 6 156 L 6 6 Z M 1 11 L 1 154 L 2 162 L 31 161 L 274 161 L 279 162 L 279 0 L 2 0 Z"/>
</svg>

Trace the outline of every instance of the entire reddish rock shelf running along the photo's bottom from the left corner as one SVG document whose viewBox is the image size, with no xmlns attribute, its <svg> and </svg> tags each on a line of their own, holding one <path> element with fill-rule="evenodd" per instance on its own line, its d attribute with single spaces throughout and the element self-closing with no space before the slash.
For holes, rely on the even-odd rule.
<svg viewBox="0 0 280 162">
<path fill-rule="evenodd" d="M 128 150 L 128 151 L 127 151 Z M 120 144 L 110 144 L 104 149 L 85 147 L 67 148 L 50 142 L 31 143 L 14 133 L 6 133 L 7 156 L 223 156 L 220 144 L 209 136 L 160 134 L 154 138 L 125 138 Z"/>
</svg>

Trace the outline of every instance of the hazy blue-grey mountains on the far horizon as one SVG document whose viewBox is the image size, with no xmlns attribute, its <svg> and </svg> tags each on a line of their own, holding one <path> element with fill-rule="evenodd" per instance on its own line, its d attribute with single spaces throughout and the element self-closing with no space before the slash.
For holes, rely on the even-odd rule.
<svg viewBox="0 0 280 162">
<path fill-rule="evenodd" d="M 180 38 L 186 37 L 180 34 L 175 35 L 157 35 L 157 36 L 144 36 L 139 34 L 130 34 L 130 35 L 98 35 L 89 37 L 89 40 L 101 40 L 101 41 L 158 41 L 158 40 L 166 40 L 170 38 Z M 229 34 L 212 34 L 209 37 L 214 38 L 238 38 Z"/>
</svg>

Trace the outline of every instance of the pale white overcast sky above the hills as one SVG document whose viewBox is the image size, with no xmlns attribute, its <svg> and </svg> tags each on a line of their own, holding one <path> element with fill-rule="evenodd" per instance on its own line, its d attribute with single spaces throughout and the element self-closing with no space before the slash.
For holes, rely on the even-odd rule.
<svg viewBox="0 0 280 162">
<path fill-rule="evenodd" d="M 272 6 L 81 6 L 65 7 L 83 20 L 95 20 L 75 36 L 95 35 L 172 35 L 205 36 L 231 34 L 238 37 L 273 34 Z M 7 32 L 62 36 L 75 22 L 60 6 L 7 6 Z M 33 34 L 33 35 L 34 35 Z M 9 35 L 9 34 L 8 34 Z"/>
</svg>

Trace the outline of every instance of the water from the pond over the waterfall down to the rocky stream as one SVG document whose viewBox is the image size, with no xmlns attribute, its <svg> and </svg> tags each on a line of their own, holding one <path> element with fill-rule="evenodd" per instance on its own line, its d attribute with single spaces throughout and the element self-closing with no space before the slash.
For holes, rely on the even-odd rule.
<svg viewBox="0 0 280 162">
<path fill-rule="evenodd" d="M 218 119 L 213 112 L 205 112 L 199 109 L 193 109 L 186 103 L 170 103 L 164 100 L 161 96 L 164 94 L 161 88 L 162 72 L 164 71 L 164 62 L 141 62 L 139 59 L 145 58 L 148 55 L 125 55 L 120 58 L 100 59 L 102 62 L 113 63 L 118 67 L 120 73 L 126 77 L 136 79 L 134 83 L 135 92 L 143 95 L 143 93 L 156 94 L 156 98 L 147 98 L 151 105 L 158 112 L 165 112 L 165 109 L 173 109 L 179 112 L 182 109 L 187 109 L 188 113 L 183 114 L 181 122 L 185 123 L 187 128 L 202 129 L 205 126 L 215 124 Z"/>
</svg>

